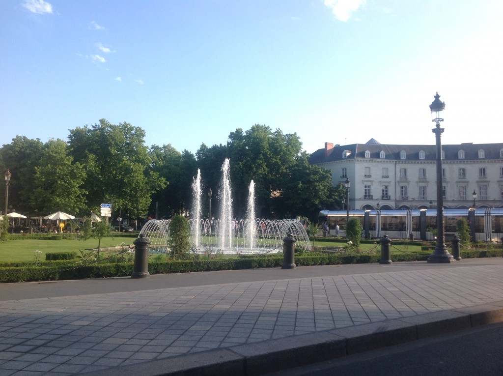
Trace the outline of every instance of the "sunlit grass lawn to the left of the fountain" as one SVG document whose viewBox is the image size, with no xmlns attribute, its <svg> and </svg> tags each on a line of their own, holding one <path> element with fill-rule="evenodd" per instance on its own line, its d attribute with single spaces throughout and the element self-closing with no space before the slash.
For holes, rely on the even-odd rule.
<svg viewBox="0 0 503 376">
<path fill-rule="evenodd" d="M 103 238 L 100 247 L 120 246 L 121 243 L 126 245 L 133 244 L 135 238 L 125 238 L 121 236 L 113 238 Z M 40 260 L 45 260 L 47 252 L 66 252 L 75 251 L 80 254 L 79 250 L 98 247 L 98 239 L 82 240 L 16 240 L 15 238 L 7 242 L 0 243 L 0 261 L 33 261 L 34 251 L 39 250 L 41 253 Z"/>
</svg>

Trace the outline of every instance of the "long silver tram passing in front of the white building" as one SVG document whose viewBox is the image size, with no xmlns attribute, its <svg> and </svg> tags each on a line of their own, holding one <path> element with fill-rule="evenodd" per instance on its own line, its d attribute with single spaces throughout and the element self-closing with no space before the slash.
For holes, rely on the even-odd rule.
<svg viewBox="0 0 503 376">
<path fill-rule="evenodd" d="M 350 218 L 360 219 L 365 239 L 434 240 L 433 231 L 437 229 L 437 209 L 399 209 L 399 210 L 350 210 Z M 503 237 L 503 208 L 444 209 L 444 232 L 446 240 L 456 234 L 456 222 L 466 218 L 473 241 L 498 242 Z M 329 234 L 345 235 L 346 210 L 321 210 L 319 223 L 327 223 Z M 433 231 L 432 231 L 433 230 Z"/>
</svg>

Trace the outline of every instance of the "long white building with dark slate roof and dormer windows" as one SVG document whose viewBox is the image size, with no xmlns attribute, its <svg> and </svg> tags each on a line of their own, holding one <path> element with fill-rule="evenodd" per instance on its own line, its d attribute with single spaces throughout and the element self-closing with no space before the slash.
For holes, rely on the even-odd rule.
<svg viewBox="0 0 503 376">
<path fill-rule="evenodd" d="M 435 145 L 325 142 L 310 163 L 350 180 L 350 209 L 436 207 Z M 503 143 L 442 145 L 442 170 L 445 208 L 503 207 Z"/>
</svg>

